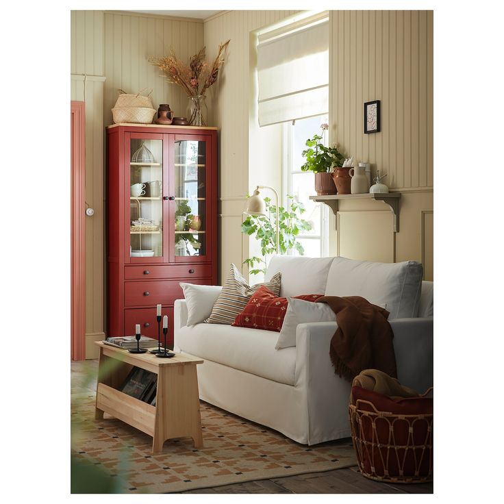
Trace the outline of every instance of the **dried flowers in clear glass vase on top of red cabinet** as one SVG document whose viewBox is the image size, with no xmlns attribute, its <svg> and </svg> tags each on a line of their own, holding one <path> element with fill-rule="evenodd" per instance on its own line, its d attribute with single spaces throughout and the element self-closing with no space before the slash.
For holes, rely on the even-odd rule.
<svg viewBox="0 0 504 504">
<path fill-rule="evenodd" d="M 170 84 L 180 86 L 189 97 L 189 124 L 193 126 L 206 126 L 205 92 L 218 77 L 220 67 L 224 63 L 224 52 L 229 40 L 220 44 L 214 63 L 210 65 L 205 61 L 205 47 L 190 57 L 189 64 L 181 62 L 171 49 L 169 56 L 162 58 L 149 58 L 149 63 L 157 66 Z"/>
</svg>

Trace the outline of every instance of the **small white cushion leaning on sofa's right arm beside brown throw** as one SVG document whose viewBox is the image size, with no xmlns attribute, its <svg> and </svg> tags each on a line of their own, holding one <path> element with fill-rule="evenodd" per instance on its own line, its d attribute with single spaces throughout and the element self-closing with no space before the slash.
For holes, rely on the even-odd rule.
<svg viewBox="0 0 504 504">
<path fill-rule="evenodd" d="M 275 349 L 296 346 L 296 329 L 299 324 L 307 322 L 336 322 L 336 314 L 325 303 L 309 303 L 303 299 L 289 297 L 286 316 L 283 319 Z M 336 323 L 334 325 L 336 331 Z"/>
</svg>

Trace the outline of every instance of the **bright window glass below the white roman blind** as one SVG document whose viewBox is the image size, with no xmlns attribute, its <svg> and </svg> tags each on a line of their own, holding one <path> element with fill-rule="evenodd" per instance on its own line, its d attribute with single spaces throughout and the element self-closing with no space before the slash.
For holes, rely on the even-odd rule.
<svg viewBox="0 0 504 504">
<path fill-rule="evenodd" d="M 312 223 L 312 230 L 299 235 L 298 240 L 305 249 L 307 257 L 324 257 L 328 253 L 329 214 L 327 205 L 316 203 L 310 199 L 314 192 L 314 173 L 301 171 L 305 158 L 301 155 L 306 149 L 307 138 L 320 134 L 320 125 L 328 123 L 328 117 L 315 116 L 294 123 L 284 123 L 283 126 L 283 203 L 287 203 L 287 194 L 303 203 L 306 212 L 303 218 Z M 327 145 L 327 131 L 324 131 L 324 144 Z M 292 255 L 299 255 L 291 251 Z"/>
</svg>

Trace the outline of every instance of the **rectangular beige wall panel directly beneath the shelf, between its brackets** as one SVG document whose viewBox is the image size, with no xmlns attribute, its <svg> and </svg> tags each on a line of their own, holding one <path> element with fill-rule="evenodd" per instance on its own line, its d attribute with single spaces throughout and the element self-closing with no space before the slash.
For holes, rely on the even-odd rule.
<svg viewBox="0 0 504 504">
<path fill-rule="evenodd" d="M 388 211 L 338 212 L 338 256 L 394 262 L 392 214 Z"/>
</svg>

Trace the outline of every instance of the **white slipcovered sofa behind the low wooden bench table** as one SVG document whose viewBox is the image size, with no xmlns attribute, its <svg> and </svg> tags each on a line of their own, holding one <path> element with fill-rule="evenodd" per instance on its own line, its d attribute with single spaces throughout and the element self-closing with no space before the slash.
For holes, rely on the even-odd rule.
<svg viewBox="0 0 504 504">
<path fill-rule="evenodd" d="M 277 256 L 265 280 L 278 271 L 283 297 L 360 295 L 387 305 L 399 381 L 419 392 L 433 385 L 433 283 L 421 281 L 421 265 Z M 203 401 L 301 444 L 350 436 L 350 383 L 334 373 L 329 358 L 336 322 L 301 323 L 296 346 L 275 350 L 277 332 L 208 323 L 188 327 L 187 316 L 186 300 L 178 299 L 175 351 L 205 361 L 198 366 Z"/>
</svg>

